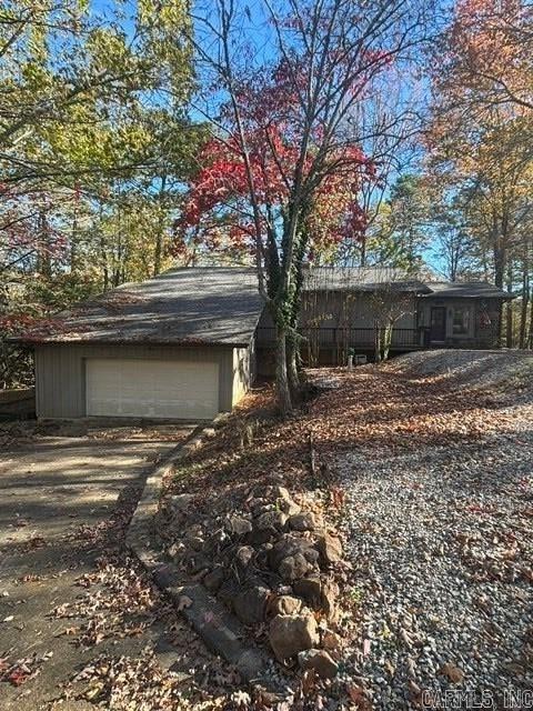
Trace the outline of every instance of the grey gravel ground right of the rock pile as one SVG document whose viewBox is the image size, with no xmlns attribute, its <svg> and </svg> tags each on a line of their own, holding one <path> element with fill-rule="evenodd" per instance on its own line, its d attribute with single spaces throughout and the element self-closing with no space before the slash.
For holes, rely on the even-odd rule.
<svg viewBox="0 0 533 711">
<path fill-rule="evenodd" d="M 531 708 L 519 693 L 531 702 L 532 365 L 441 351 L 361 371 L 364 392 L 381 388 L 393 419 L 402 413 L 388 438 L 376 419 L 375 442 L 336 458 L 361 632 L 345 673 L 373 709 Z M 424 402 L 432 415 L 418 437 Z M 411 420 L 411 440 L 396 438 Z"/>
</svg>

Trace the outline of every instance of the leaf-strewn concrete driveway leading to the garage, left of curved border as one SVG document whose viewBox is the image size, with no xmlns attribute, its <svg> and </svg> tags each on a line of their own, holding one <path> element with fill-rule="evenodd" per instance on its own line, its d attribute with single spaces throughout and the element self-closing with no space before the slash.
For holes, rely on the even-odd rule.
<svg viewBox="0 0 533 711">
<path fill-rule="evenodd" d="M 2 711 L 201 708 L 231 693 L 231 671 L 124 550 L 144 473 L 190 431 L 33 434 L 2 452 Z"/>
</svg>

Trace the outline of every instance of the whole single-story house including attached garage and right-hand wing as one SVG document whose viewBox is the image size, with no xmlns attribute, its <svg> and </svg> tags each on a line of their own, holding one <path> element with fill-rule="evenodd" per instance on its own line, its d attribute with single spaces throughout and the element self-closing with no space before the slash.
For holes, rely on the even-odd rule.
<svg viewBox="0 0 533 711">
<path fill-rule="evenodd" d="M 378 311 L 393 312 L 396 352 L 494 347 L 509 294 L 485 282 L 401 278 L 394 270 L 306 272 L 304 359 L 345 362 L 373 349 Z M 123 284 L 21 339 L 34 350 L 40 418 L 207 420 L 230 411 L 258 370 L 268 372 L 274 329 L 253 269 L 173 269 Z"/>
</svg>

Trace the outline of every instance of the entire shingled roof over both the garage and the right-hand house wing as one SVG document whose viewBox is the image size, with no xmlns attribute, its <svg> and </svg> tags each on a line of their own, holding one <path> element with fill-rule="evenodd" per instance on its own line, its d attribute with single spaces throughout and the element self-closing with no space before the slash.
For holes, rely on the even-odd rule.
<svg viewBox="0 0 533 711">
<path fill-rule="evenodd" d="M 311 268 L 305 272 L 304 289 L 374 291 L 383 284 L 425 297 L 513 298 L 486 282 L 421 281 L 389 268 Z M 263 309 L 253 268 L 171 269 L 86 301 L 17 340 L 248 346 Z"/>
</svg>

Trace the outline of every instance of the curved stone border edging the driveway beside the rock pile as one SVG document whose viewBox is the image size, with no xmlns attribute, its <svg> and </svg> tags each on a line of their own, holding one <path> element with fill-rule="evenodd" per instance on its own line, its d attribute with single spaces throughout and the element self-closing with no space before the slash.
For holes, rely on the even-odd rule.
<svg viewBox="0 0 533 711">
<path fill-rule="evenodd" d="M 207 439 L 211 439 L 215 434 L 213 428 L 225 419 L 227 414 L 222 413 L 209 427 L 202 430 L 197 428 L 183 444 L 179 444 L 149 473 L 128 527 L 125 545 L 212 652 L 233 664 L 248 683 L 279 693 L 282 687 L 270 673 L 273 663 L 270 655 L 257 645 L 247 643 L 247 632 L 237 618 L 208 594 L 203 585 L 184 581 L 179 569 L 163 560 L 163 551 L 155 544 L 153 520 L 159 509 L 163 478 L 172 474 L 178 462 L 201 447 Z M 171 664 L 172 660 L 167 665 Z"/>
</svg>

